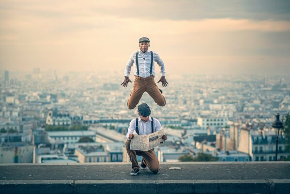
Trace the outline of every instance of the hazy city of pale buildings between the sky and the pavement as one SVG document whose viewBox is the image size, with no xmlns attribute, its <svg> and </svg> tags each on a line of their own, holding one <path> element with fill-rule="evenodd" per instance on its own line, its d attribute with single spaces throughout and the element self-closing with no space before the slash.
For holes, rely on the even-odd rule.
<svg viewBox="0 0 290 194">
<path fill-rule="evenodd" d="M 126 107 L 132 84 L 120 85 L 122 72 L 35 68 L 0 75 L 1 163 L 128 162 L 125 134 L 138 115 L 137 108 Z M 276 133 L 271 126 L 275 113 L 285 119 L 290 112 L 289 76 L 167 79 L 165 107 L 157 106 L 147 93 L 140 101 L 149 104 L 151 116 L 168 135 L 165 146 L 155 149 L 160 162 L 192 160 L 201 154 L 212 156 L 209 161 L 275 161 Z M 278 160 L 290 156 L 285 140 L 282 133 Z"/>
</svg>

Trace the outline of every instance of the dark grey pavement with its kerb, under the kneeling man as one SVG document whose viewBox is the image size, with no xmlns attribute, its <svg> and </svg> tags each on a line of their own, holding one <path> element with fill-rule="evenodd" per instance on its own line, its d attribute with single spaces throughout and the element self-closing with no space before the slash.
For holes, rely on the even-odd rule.
<svg viewBox="0 0 290 194">
<path fill-rule="evenodd" d="M 173 168 L 173 169 L 172 169 Z M 290 162 L 0 164 L 0 194 L 290 194 Z"/>
</svg>

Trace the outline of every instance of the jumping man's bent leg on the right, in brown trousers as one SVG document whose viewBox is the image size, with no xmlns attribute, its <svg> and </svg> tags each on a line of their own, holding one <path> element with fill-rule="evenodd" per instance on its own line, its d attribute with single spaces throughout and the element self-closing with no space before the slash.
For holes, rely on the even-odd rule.
<svg viewBox="0 0 290 194">
<path fill-rule="evenodd" d="M 158 89 L 158 86 L 156 85 L 153 77 L 151 77 L 150 81 L 148 81 L 146 92 L 153 98 L 153 100 L 159 106 L 165 106 L 165 104 L 166 104 L 165 97 L 161 94 L 161 92 Z"/>
</svg>

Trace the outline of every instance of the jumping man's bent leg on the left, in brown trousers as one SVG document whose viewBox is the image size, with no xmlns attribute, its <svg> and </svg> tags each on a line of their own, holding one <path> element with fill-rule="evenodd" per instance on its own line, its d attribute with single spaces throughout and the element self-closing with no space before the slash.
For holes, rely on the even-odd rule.
<svg viewBox="0 0 290 194">
<path fill-rule="evenodd" d="M 132 93 L 128 99 L 127 106 L 128 109 L 134 109 L 136 105 L 139 103 L 142 95 L 145 92 L 144 83 L 138 77 L 135 78 Z"/>
</svg>

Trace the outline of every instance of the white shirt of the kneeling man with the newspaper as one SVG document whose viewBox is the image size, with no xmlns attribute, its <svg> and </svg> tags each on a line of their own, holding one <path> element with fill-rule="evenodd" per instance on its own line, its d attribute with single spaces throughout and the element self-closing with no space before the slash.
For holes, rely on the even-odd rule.
<svg viewBox="0 0 290 194">
<path fill-rule="evenodd" d="M 148 135 L 152 132 L 151 131 L 151 122 L 152 122 L 151 116 L 149 116 L 149 121 L 147 121 L 147 122 L 142 121 L 140 116 L 138 117 L 139 135 Z M 128 132 L 126 135 L 128 140 L 129 140 L 129 134 L 133 134 L 135 129 L 136 129 L 136 119 L 133 119 L 130 122 Z M 161 130 L 161 129 L 162 128 L 161 128 L 160 122 L 156 118 L 153 118 L 153 132 L 156 132 L 156 131 Z"/>
</svg>

